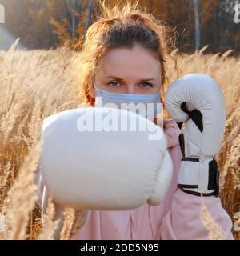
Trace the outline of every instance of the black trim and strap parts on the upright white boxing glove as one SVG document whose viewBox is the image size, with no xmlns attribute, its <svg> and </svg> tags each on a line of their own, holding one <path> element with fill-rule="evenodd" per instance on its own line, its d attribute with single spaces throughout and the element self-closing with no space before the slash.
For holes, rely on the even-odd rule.
<svg viewBox="0 0 240 256">
<path fill-rule="evenodd" d="M 202 113 L 196 109 L 189 111 L 186 108 L 186 102 L 182 102 L 181 109 L 186 114 L 188 114 L 189 118 L 191 118 L 193 120 L 195 125 L 198 127 L 198 129 L 202 133 L 202 131 L 203 131 Z M 180 129 L 182 128 L 182 124 L 183 124 L 183 122 L 178 122 L 178 127 Z M 179 146 L 182 151 L 182 159 L 181 160 L 182 161 L 199 162 L 199 158 L 186 157 L 184 134 L 180 134 L 178 139 L 179 139 Z M 202 196 L 214 195 L 214 196 L 218 197 L 218 195 L 219 195 L 219 175 L 220 175 L 220 172 L 218 170 L 218 164 L 215 161 L 215 159 L 213 158 L 213 160 L 209 162 L 209 177 L 208 177 L 208 186 L 207 186 L 208 190 L 214 190 L 213 193 L 198 193 L 195 191 L 185 190 L 186 188 L 187 189 L 198 189 L 198 185 L 178 184 L 178 187 L 181 188 L 181 190 L 183 190 L 184 192 L 189 193 L 189 194 L 194 194 L 194 195 L 198 195 L 198 196 L 200 196 L 201 194 L 202 194 Z"/>
</svg>

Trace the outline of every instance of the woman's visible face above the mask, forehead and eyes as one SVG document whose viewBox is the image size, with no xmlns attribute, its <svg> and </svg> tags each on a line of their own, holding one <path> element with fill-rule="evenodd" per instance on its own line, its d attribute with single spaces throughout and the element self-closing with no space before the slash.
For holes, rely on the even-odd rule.
<svg viewBox="0 0 240 256">
<path fill-rule="evenodd" d="M 160 62 L 150 50 L 137 45 L 132 50 L 107 51 L 95 77 L 97 89 L 122 94 L 157 94 L 161 83 Z"/>
</svg>

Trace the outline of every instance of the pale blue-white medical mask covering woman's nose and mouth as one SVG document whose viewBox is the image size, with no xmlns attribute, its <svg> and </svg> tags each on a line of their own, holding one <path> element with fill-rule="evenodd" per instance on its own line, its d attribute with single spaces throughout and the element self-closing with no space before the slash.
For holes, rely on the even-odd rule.
<svg viewBox="0 0 240 256">
<path fill-rule="evenodd" d="M 115 107 L 130 110 L 154 122 L 154 117 L 162 114 L 161 92 L 158 94 L 118 94 L 98 89 L 96 107 Z"/>
</svg>

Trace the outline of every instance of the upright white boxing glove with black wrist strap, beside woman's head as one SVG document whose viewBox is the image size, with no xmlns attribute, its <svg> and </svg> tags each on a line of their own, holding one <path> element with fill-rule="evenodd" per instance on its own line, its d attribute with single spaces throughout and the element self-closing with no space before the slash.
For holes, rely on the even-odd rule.
<svg viewBox="0 0 240 256">
<path fill-rule="evenodd" d="M 166 91 L 166 110 L 182 130 L 182 162 L 178 186 L 186 193 L 219 194 L 219 170 L 214 156 L 220 149 L 226 122 L 222 90 L 206 74 L 188 74 Z"/>
</svg>

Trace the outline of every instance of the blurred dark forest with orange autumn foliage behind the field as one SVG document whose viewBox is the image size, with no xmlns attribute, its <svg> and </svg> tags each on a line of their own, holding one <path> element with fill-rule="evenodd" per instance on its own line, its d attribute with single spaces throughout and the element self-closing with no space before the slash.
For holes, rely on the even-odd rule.
<svg viewBox="0 0 240 256">
<path fill-rule="evenodd" d="M 119 0 L 109 0 L 115 6 Z M 124 2 L 136 0 L 122 0 Z M 234 22 L 236 0 L 138 0 L 138 6 L 170 26 L 170 39 L 184 52 L 209 45 L 210 52 L 240 52 L 240 24 Z M 3 26 L 28 49 L 70 46 L 77 49 L 100 14 L 98 0 L 2 0 Z M 2 24 L 1 24 L 2 26 Z M 174 32 L 174 33 L 173 33 Z M 174 37 L 175 35 L 175 37 Z"/>
</svg>

